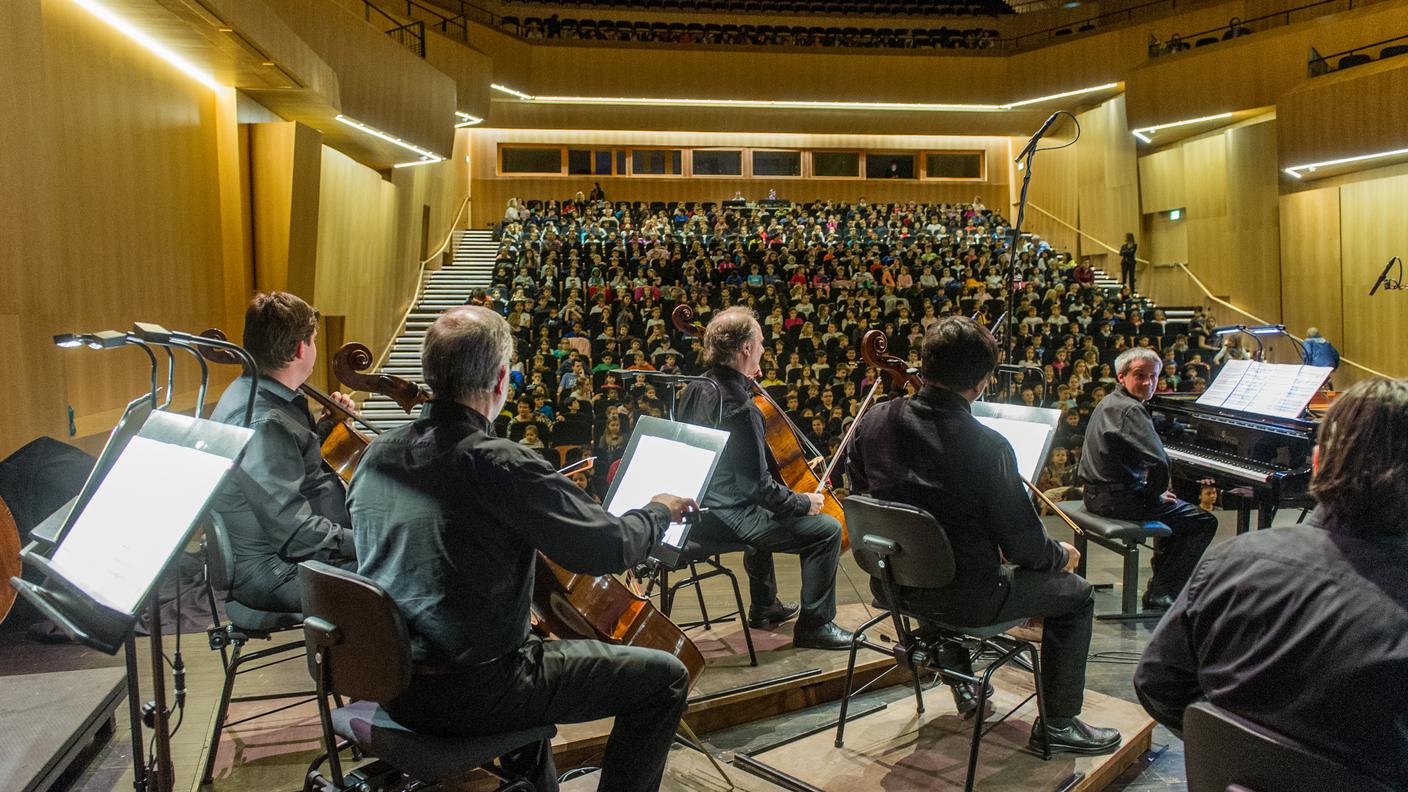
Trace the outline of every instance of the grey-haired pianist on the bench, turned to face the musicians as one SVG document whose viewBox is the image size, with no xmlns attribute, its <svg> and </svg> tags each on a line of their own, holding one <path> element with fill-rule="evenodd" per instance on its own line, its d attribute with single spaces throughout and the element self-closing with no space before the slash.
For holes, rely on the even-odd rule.
<svg viewBox="0 0 1408 792">
<path fill-rule="evenodd" d="M 1153 543 L 1153 578 L 1143 595 L 1148 610 L 1173 605 L 1218 533 L 1211 512 L 1180 500 L 1169 489 L 1169 455 L 1145 407 L 1159 386 L 1162 368 L 1159 352 L 1145 347 L 1115 358 L 1119 388 L 1090 413 L 1080 454 L 1087 510 L 1117 520 L 1159 520 L 1173 531 Z"/>
</svg>

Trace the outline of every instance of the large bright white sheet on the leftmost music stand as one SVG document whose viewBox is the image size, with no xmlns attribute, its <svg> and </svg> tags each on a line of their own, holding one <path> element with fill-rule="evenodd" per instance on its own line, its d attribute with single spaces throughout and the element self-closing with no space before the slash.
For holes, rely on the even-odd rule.
<svg viewBox="0 0 1408 792">
<path fill-rule="evenodd" d="M 230 466 L 225 457 L 134 437 L 55 550 L 54 568 L 94 600 L 135 612 Z"/>
</svg>

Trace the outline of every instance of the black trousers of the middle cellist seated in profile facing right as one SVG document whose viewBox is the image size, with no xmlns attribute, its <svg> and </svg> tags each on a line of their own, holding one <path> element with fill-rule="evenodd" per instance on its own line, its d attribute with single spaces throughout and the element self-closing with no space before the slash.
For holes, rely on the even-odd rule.
<svg viewBox="0 0 1408 792">
<path fill-rule="evenodd" d="M 694 537 L 748 545 L 743 571 L 753 607 L 777 599 L 773 552 L 801 557 L 801 613 L 798 627 L 819 627 L 836 617 L 836 565 L 841 562 L 841 523 L 826 514 L 779 517 L 756 506 L 710 509 Z"/>
</svg>

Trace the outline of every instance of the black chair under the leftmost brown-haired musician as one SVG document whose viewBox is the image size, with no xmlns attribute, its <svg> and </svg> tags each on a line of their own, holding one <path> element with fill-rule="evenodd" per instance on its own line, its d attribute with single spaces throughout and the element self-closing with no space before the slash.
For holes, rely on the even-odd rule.
<svg viewBox="0 0 1408 792">
<path fill-rule="evenodd" d="M 215 719 L 211 722 L 210 727 L 210 743 L 206 753 L 206 764 L 201 769 L 200 782 L 210 784 L 214 779 L 215 771 L 215 753 L 220 750 L 220 734 L 231 726 L 238 726 L 246 723 L 256 717 L 263 717 L 266 714 L 273 714 L 311 700 L 313 691 L 294 691 L 287 693 L 262 693 L 255 696 L 235 696 L 235 679 L 241 674 L 248 674 L 251 671 L 259 671 L 260 668 L 268 668 L 279 662 L 286 662 L 290 660 L 297 660 L 300 655 L 293 652 L 301 652 L 303 640 L 291 640 L 282 643 L 269 648 L 245 652 L 245 644 L 251 638 L 258 638 L 263 641 L 273 640 L 279 633 L 287 633 L 290 630 L 297 630 L 303 627 L 301 613 L 277 613 L 272 610 L 258 610 L 241 605 L 239 602 L 231 599 L 230 589 L 234 585 L 235 578 L 235 555 L 230 547 L 230 531 L 225 528 L 225 521 L 218 513 L 210 513 L 210 524 L 206 527 L 206 599 L 210 603 L 210 612 L 214 614 L 215 624 L 206 630 L 206 637 L 210 640 L 210 648 L 220 650 L 220 664 L 225 669 L 225 683 L 220 691 L 220 703 L 215 705 Z M 228 621 L 220 621 L 220 610 L 215 607 L 215 592 L 220 592 L 221 599 L 225 600 L 225 616 Z M 279 660 L 270 660 L 269 662 L 259 662 L 272 657 L 287 655 Z M 248 664 L 256 662 L 258 665 L 246 668 Z M 297 696 L 300 700 L 290 705 L 276 707 L 272 710 L 260 712 L 249 717 L 242 717 L 239 720 L 227 722 L 230 716 L 231 703 L 242 702 L 262 702 L 275 699 L 289 699 Z"/>
</svg>

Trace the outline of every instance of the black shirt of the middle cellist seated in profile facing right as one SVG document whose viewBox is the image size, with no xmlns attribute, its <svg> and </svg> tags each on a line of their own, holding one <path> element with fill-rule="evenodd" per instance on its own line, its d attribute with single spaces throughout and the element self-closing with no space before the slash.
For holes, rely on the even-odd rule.
<svg viewBox="0 0 1408 792">
<path fill-rule="evenodd" d="M 728 444 L 724 447 L 701 506 L 707 509 L 758 506 L 779 517 L 805 514 L 811 509 L 811 500 L 800 492 L 787 489 L 772 476 L 763 413 L 753 404 L 748 378 L 729 366 L 714 366 L 705 376 L 717 382 L 718 388 L 707 382 L 691 382 L 676 409 L 676 416 L 681 421 L 715 426 L 719 395 L 724 399 L 724 421 L 718 428 L 729 433 Z"/>
</svg>

